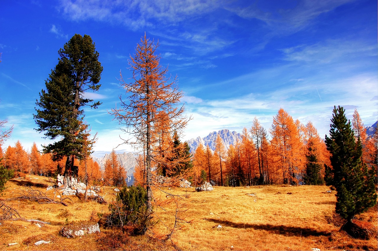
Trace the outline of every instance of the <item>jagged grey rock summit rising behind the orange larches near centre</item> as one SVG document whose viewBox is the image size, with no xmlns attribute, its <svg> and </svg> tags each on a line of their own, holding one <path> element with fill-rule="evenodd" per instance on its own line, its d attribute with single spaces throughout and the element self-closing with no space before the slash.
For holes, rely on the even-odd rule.
<svg viewBox="0 0 378 251">
<path fill-rule="evenodd" d="M 219 134 L 220 138 L 223 140 L 223 144 L 225 145 L 226 149 L 228 149 L 230 145 L 235 145 L 236 140 L 242 140 L 242 135 L 239 132 L 231 132 L 228 129 L 222 129 L 218 132 L 211 132 L 208 136 L 204 138 L 197 137 L 195 139 L 188 140 L 187 143 L 190 146 L 190 152 L 193 153 L 199 145 L 203 145 L 204 148 L 206 148 L 206 146 L 209 145 L 210 149 L 214 151 L 215 139 L 217 138 L 217 134 Z"/>
</svg>

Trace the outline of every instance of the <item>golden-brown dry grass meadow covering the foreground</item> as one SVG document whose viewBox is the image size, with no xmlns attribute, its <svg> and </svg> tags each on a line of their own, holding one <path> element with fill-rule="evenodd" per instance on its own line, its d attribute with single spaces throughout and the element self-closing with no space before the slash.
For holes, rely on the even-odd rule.
<svg viewBox="0 0 378 251">
<path fill-rule="evenodd" d="M 48 178 L 27 176 L 34 183 L 51 185 Z M 0 199 L 19 196 L 22 190 L 39 189 L 54 197 L 54 190 L 25 187 L 8 181 Z M 358 240 L 339 231 L 343 220 L 335 214 L 335 192 L 327 186 L 250 186 L 214 187 L 211 192 L 176 188 L 167 192 L 181 194 L 176 200 L 186 205 L 183 223 L 171 241 L 159 236 L 172 227 L 177 208 L 172 196 L 156 190 L 155 205 L 159 222 L 145 236 L 129 236 L 117 229 L 100 227 L 100 234 L 67 239 L 59 235 L 62 226 L 82 221 L 98 221 L 97 213 L 107 213 L 108 205 L 84 202 L 76 196 L 73 203 L 39 204 L 29 200 L 5 201 L 25 219 L 50 222 L 39 228 L 35 223 L 4 220 L 0 225 L 1 250 L 377 250 L 377 207 L 356 216 L 355 222 L 370 232 L 370 240 Z M 253 194 L 253 195 L 251 195 Z M 111 187 L 101 188 L 107 202 L 115 199 Z M 167 198 L 168 197 L 168 198 Z M 217 228 L 221 225 L 222 228 Z M 39 240 L 48 244 L 35 246 Z M 9 243 L 18 244 L 9 246 Z"/>
</svg>

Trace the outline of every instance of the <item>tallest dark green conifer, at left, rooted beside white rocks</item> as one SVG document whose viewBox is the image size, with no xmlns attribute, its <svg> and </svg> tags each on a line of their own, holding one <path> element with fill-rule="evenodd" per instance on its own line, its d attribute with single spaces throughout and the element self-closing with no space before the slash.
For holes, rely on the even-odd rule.
<svg viewBox="0 0 378 251">
<path fill-rule="evenodd" d="M 39 93 L 34 119 L 45 138 L 59 139 L 44 146 L 54 160 L 67 157 L 64 183 L 70 186 L 71 176 L 77 176 L 74 159 L 82 157 L 84 106 L 97 108 L 99 102 L 84 97 L 86 91 L 98 91 L 102 66 L 99 53 L 89 35 L 75 34 L 59 49 L 59 61 L 45 81 L 46 90 Z"/>
</svg>

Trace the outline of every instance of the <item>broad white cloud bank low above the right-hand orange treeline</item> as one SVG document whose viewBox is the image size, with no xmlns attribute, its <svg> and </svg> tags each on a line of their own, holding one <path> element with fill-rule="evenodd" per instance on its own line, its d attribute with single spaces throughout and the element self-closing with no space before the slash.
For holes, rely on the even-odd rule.
<svg viewBox="0 0 378 251">
<path fill-rule="evenodd" d="M 376 81 L 376 75 L 361 74 L 323 83 L 285 86 L 259 95 L 204 100 L 200 105 L 189 103 L 186 112 L 193 115 L 193 120 L 187 126 L 185 140 L 204 137 L 219 128 L 250 128 L 254 116 L 269 129 L 279 108 L 285 109 L 294 120 L 313 122 L 321 137 L 328 134 L 334 105 L 347 108 L 349 119 L 357 108 L 365 125 L 372 125 L 377 120 Z"/>
</svg>

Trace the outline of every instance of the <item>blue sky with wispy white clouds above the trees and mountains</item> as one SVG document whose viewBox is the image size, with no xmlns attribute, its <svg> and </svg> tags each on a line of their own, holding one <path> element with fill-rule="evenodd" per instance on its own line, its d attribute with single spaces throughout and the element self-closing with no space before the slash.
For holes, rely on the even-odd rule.
<svg viewBox="0 0 378 251">
<path fill-rule="evenodd" d="M 98 152 L 122 143 L 108 111 L 144 32 L 184 92 L 193 119 L 183 140 L 241 132 L 254 116 L 269 129 L 279 108 L 311 120 L 321 137 L 334 105 L 350 119 L 357 108 L 365 126 L 378 117 L 376 0 L 14 0 L 2 2 L 0 31 L 0 119 L 14 124 L 3 148 L 48 143 L 33 129 L 35 102 L 75 33 L 92 37 L 104 67 L 100 90 L 88 94 L 102 105 L 85 116 Z"/>
</svg>

